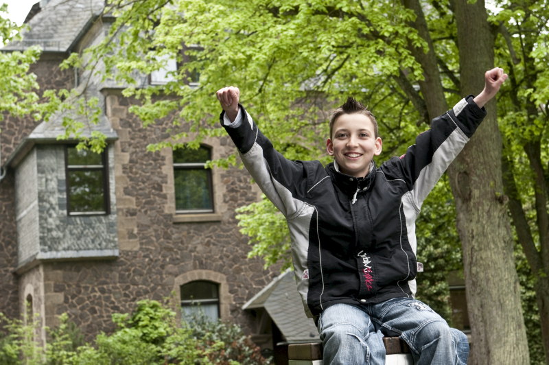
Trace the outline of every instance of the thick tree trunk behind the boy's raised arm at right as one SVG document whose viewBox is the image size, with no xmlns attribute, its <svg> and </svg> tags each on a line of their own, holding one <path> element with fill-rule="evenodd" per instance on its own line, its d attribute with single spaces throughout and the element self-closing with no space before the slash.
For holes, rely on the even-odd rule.
<svg viewBox="0 0 549 365">
<path fill-rule="evenodd" d="M 462 94 L 479 93 L 493 67 L 493 35 L 484 1 L 456 0 Z M 463 93 L 465 91 L 465 93 Z M 463 246 L 474 343 L 471 364 L 529 364 L 513 235 L 502 198 L 502 137 L 495 99 L 489 115 L 449 169 Z"/>
</svg>

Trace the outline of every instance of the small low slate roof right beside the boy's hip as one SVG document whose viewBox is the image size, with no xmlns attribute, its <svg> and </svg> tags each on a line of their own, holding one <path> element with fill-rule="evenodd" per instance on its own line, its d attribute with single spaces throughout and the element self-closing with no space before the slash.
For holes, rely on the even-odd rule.
<svg viewBox="0 0 549 365">
<path fill-rule="evenodd" d="M 242 307 L 257 308 L 266 309 L 288 342 L 320 341 L 314 321 L 305 316 L 292 270 L 275 278 Z"/>
</svg>

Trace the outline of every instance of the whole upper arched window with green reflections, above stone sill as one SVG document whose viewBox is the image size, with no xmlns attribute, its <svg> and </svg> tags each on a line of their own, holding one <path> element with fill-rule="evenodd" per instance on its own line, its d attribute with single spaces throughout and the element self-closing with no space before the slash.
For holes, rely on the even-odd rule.
<svg viewBox="0 0 549 365">
<path fill-rule="evenodd" d="M 212 213 L 211 169 L 206 169 L 210 149 L 178 148 L 174 150 L 176 213 Z"/>
</svg>

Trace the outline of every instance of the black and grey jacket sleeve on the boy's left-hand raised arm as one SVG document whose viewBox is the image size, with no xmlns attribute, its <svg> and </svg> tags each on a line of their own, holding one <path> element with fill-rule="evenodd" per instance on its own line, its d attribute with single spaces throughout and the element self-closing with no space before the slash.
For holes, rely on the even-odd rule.
<svg viewBox="0 0 549 365">
<path fill-rule="evenodd" d="M 235 143 L 244 166 L 261 191 L 285 217 L 294 217 L 303 209 L 307 189 L 307 168 L 301 161 L 287 160 L 274 150 L 252 117 L 240 106 L 242 123 L 236 126 L 220 121 Z"/>
</svg>

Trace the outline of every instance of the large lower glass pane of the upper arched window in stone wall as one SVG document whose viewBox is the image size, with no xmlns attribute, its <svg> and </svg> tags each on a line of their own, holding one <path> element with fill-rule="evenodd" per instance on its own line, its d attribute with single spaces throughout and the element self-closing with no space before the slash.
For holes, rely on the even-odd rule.
<svg viewBox="0 0 549 365">
<path fill-rule="evenodd" d="M 209 170 L 175 169 L 176 210 L 213 209 Z"/>
</svg>

